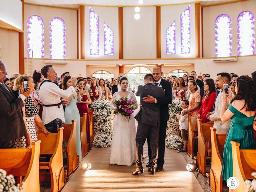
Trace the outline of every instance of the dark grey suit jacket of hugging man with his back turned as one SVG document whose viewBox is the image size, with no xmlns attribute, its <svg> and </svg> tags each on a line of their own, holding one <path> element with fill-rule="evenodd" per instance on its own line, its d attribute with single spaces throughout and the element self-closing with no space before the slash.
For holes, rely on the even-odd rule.
<svg viewBox="0 0 256 192">
<path fill-rule="evenodd" d="M 164 97 L 165 93 L 161 87 L 157 87 L 152 83 L 147 83 L 144 86 L 139 85 L 136 96 L 140 96 L 142 108 L 134 118 L 143 124 L 160 126 L 160 106 L 155 103 L 144 102 L 143 97 L 147 97 L 148 95 L 158 98 Z"/>
</svg>

